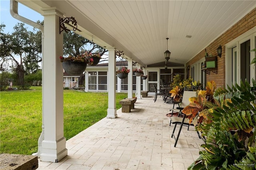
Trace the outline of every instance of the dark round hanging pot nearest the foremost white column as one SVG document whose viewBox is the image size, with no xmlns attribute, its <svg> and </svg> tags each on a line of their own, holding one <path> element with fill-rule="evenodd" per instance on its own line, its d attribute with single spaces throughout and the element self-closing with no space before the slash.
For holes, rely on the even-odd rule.
<svg viewBox="0 0 256 170">
<path fill-rule="evenodd" d="M 80 75 L 86 69 L 86 62 L 73 62 L 73 61 L 65 61 L 62 62 L 62 67 L 66 73 L 69 75 Z"/>
</svg>

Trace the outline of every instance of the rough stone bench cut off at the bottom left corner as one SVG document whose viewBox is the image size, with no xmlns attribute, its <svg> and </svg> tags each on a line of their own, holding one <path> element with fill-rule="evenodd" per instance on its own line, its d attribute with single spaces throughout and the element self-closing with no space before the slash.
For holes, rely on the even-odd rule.
<svg viewBox="0 0 256 170">
<path fill-rule="evenodd" d="M 37 168 L 37 156 L 0 154 L 0 170 L 36 170 Z"/>
</svg>

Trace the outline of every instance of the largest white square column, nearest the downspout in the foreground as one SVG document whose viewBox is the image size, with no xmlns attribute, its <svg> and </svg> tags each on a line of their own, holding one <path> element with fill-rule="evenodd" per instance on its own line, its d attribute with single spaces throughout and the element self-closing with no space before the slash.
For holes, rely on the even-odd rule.
<svg viewBox="0 0 256 170">
<path fill-rule="evenodd" d="M 63 68 L 59 59 L 63 55 L 63 34 L 59 34 L 61 14 L 55 8 L 44 11 L 42 61 L 44 140 L 40 160 L 58 162 L 68 154 L 63 125 Z"/>
</svg>

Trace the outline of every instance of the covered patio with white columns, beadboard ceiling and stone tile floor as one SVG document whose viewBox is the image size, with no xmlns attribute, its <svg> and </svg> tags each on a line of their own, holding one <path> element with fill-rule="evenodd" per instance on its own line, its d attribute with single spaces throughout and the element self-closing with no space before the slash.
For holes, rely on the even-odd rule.
<svg viewBox="0 0 256 170">
<path fill-rule="evenodd" d="M 165 116 L 170 112 L 170 105 L 160 98 L 155 103 L 153 97 L 141 99 L 140 83 L 136 84 L 136 109 L 132 113 L 116 109 L 117 50 L 124 51 L 128 69 L 136 62 L 138 69 L 145 67 L 147 73 L 151 72 L 148 84 L 156 84 L 157 89 L 165 66 L 172 74 L 191 76 L 204 85 L 214 80 L 218 87 L 239 84 L 240 79 L 252 79 L 256 75 L 255 66 L 248 64 L 255 56 L 250 49 L 256 47 L 256 1 L 253 0 L 10 2 L 15 18 L 42 31 L 43 121 L 36 153 L 40 157 L 39 169 L 185 169 L 198 158 L 203 141 L 192 128 L 182 130 L 174 148 L 174 139 L 170 138 L 173 126 L 169 127 L 169 118 Z M 19 16 L 18 2 L 42 14 L 44 26 Z M 73 17 L 77 21 L 75 25 L 62 24 L 70 30 L 77 26 L 77 34 L 88 40 L 93 38 L 94 43 L 108 49 L 109 95 L 106 118 L 66 141 L 63 67 L 59 59 L 63 55 L 60 21 Z M 222 49 L 219 56 L 218 47 Z M 215 57 L 215 64 L 203 70 L 206 48 Z M 168 50 L 169 61 L 164 57 L 164 51 Z M 161 68 L 156 63 L 166 65 Z M 128 98 L 132 98 L 132 74 L 128 74 Z"/>
</svg>

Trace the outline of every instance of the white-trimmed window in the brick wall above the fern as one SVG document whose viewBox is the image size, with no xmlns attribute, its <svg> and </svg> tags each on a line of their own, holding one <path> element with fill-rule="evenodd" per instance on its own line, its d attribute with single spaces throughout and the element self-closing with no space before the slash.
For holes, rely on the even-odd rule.
<svg viewBox="0 0 256 170">
<path fill-rule="evenodd" d="M 225 44 L 226 47 L 226 84 L 230 87 L 240 85 L 245 79 L 251 83 L 255 79 L 256 67 L 250 65 L 255 52 L 250 50 L 256 47 L 256 28 L 249 30 L 238 38 Z"/>
</svg>

